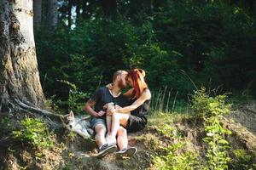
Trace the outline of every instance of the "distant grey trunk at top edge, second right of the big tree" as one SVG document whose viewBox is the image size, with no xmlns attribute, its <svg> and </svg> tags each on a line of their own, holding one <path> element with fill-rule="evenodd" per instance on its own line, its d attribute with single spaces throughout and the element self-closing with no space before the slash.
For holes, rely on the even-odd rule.
<svg viewBox="0 0 256 170">
<path fill-rule="evenodd" d="M 58 0 L 49 0 L 49 26 L 58 24 Z"/>
</svg>

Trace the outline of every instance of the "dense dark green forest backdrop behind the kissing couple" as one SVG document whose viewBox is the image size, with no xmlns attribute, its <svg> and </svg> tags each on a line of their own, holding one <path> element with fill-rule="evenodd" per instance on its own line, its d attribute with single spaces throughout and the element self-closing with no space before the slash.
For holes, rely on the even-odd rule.
<svg viewBox="0 0 256 170">
<path fill-rule="evenodd" d="M 134 67 L 153 92 L 178 99 L 195 86 L 256 95 L 253 0 L 51 0 L 34 10 L 48 98 L 84 102 L 114 71 Z"/>
</svg>

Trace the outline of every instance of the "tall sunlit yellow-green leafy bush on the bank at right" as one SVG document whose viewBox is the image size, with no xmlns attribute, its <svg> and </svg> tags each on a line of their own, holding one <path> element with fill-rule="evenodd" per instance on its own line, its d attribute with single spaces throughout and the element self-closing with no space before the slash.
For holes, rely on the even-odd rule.
<svg viewBox="0 0 256 170">
<path fill-rule="evenodd" d="M 224 139 L 230 130 L 225 129 L 219 122 L 221 116 L 230 113 L 230 104 L 226 102 L 226 95 L 211 97 L 206 88 L 195 91 L 192 95 L 192 109 L 196 116 L 205 119 L 205 132 L 207 137 L 203 141 L 207 144 L 207 168 L 210 170 L 228 169 L 231 161 L 228 148 L 229 142 Z"/>
</svg>

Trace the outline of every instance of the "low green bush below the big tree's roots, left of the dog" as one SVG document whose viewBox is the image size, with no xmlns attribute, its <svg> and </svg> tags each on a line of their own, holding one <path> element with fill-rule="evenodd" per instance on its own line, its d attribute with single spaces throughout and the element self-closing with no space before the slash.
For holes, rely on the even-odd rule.
<svg viewBox="0 0 256 170">
<path fill-rule="evenodd" d="M 53 147 L 53 134 L 44 122 L 26 118 L 20 122 L 20 129 L 13 132 L 15 139 L 32 144 L 38 149 Z"/>
</svg>

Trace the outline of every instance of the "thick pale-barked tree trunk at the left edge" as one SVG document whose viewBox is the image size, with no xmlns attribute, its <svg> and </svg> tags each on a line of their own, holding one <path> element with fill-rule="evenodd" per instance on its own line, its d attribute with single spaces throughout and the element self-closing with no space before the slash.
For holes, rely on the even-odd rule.
<svg viewBox="0 0 256 170">
<path fill-rule="evenodd" d="M 15 99 L 44 106 L 32 16 L 32 0 L 0 0 L 0 111 Z"/>
</svg>

